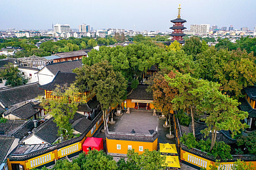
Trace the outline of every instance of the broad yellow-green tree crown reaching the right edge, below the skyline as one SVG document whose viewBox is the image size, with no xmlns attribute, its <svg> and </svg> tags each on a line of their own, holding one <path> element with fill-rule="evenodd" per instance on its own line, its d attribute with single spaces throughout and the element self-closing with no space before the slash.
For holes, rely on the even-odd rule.
<svg viewBox="0 0 256 170">
<path fill-rule="evenodd" d="M 256 63 L 253 53 L 209 48 L 197 55 L 199 77 L 221 83 L 223 92 L 238 98 L 241 90 L 256 82 Z"/>
</svg>

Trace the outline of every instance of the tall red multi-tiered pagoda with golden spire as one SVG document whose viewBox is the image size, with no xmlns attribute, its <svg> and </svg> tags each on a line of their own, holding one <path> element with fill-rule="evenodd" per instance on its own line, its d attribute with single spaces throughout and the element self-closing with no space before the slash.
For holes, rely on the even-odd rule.
<svg viewBox="0 0 256 170">
<path fill-rule="evenodd" d="M 177 40 L 177 42 L 179 42 L 180 44 L 184 44 L 185 41 L 183 40 L 183 36 L 185 36 L 186 34 L 183 33 L 183 30 L 186 29 L 186 27 L 183 26 L 184 22 L 187 22 L 184 19 L 180 18 L 180 4 L 178 7 L 178 16 L 176 19 L 171 20 L 171 22 L 174 23 L 174 25 L 172 27 L 170 27 L 170 29 L 174 30 L 172 34 L 170 34 L 173 38 L 170 41 L 171 43 L 173 43 L 175 40 Z"/>
</svg>

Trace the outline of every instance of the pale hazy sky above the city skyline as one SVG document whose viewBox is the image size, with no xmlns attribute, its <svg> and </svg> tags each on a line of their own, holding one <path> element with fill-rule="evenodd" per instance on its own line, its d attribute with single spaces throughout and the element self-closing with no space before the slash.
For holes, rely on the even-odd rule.
<svg viewBox="0 0 256 170">
<path fill-rule="evenodd" d="M 256 0 L 0 0 L 0 29 L 51 29 L 52 23 L 94 29 L 167 31 L 171 19 L 234 28 L 256 25 Z"/>
</svg>

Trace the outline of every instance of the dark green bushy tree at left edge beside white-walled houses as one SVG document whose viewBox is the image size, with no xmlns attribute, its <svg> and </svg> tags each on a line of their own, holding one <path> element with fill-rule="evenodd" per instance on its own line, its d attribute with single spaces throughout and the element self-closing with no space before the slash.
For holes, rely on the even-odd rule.
<svg viewBox="0 0 256 170">
<path fill-rule="evenodd" d="M 5 85 L 11 85 L 12 87 L 25 85 L 28 82 L 28 79 L 22 75 L 18 67 L 15 67 L 12 63 L 4 65 L 4 69 L 0 70 L 0 77 L 6 80 Z"/>
</svg>

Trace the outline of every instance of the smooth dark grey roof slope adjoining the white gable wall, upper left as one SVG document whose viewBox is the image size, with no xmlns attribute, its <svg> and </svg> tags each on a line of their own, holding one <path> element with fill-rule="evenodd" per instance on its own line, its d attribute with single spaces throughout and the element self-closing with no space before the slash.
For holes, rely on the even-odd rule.
<svg viewBox="0 0 256 170">
<path fill-rule="evenodd" d="M 49 71 L 51 71 L 54 75 L 60 72 L 73 72 L 73 69 L 82 67 L 80 60 L 75 61 L 64 61 L 59 63 L 52 63 L 45 66 Z"/>
</svg>

